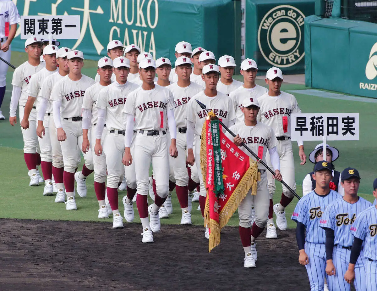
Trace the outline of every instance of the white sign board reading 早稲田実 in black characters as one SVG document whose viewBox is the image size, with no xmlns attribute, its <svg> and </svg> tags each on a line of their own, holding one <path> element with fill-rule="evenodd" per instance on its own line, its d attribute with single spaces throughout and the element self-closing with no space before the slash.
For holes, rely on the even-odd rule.
<svg viewBox="0 0 377 291">
<path fill-rule="evenodd" d="M 359 113 L 291 114 L 292 140 L 359 140 Z"/>
</svg>

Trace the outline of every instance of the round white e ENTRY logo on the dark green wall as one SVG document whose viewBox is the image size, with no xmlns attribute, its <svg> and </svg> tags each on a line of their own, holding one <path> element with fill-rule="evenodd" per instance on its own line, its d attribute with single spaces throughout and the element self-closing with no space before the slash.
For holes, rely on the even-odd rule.
<svg viewBox="0 0 377 291">
<path fill-rule="evenodd" d="M 299 9 L 290 5 L 276 6 L 264 15 L 258 29 L 258 45 L 268 63 L 284 68 L 302 59 L 304 18 Z"/>
</svg>

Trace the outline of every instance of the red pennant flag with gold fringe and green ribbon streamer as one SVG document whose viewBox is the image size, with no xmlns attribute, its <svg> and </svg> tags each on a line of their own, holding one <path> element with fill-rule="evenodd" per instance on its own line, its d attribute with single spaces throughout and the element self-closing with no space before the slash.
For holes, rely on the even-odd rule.
<svg viewBox="0 0 377 291">
<path fill-rule="evenodd" d="M 207 188 L 204 225 L 210 229 L 208 251 L 220 243 L 220 231 L 251 189 L 256 195 L 258 166 L 222 132 L 211 111 L 203 124 L 200 165 Z M 259 179 L 260 180 L 260 179 Z"/>
</svg>

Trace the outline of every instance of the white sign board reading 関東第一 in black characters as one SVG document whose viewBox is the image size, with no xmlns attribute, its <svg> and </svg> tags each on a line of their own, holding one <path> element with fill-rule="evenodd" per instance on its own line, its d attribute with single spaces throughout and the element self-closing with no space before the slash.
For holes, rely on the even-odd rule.
<svg viewBox="0 0 377 291">
<path fill-rule="evenodd" d="M 80 15 L 32 15 L 21 16 L 21 39 L 29 37 L 78 39 Z"/>
</svg>

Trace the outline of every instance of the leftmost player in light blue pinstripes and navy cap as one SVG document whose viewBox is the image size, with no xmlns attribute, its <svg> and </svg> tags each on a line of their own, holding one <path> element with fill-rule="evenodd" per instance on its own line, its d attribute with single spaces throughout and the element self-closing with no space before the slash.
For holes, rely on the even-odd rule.
<svg viewBox="0 0 377 291">
<path fill-rule="evenodd" d="M 314 166 L 313 179 L 316 186 L 307 196 L 297 202 L 291 219 L 297 223 L 296 236 L 299 246 L 299 262 L 307 268 L 310 290 L 323 291 L 325 287 L 326 235 L 319 223 L 329 203 L 341 198 L 330 189 L 333 165 L 320 160 Z"/>
</svg>

